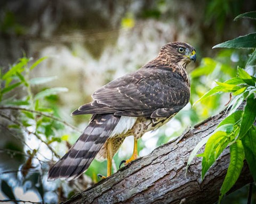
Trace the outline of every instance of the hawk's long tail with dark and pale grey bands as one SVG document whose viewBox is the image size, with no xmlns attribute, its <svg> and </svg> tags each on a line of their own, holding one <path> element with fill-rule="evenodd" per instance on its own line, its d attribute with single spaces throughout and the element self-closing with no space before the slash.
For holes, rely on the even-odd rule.
<svg viewBox="0 0 256 204">
<path fill-rule="evenodd" d="M 93 115 L 91 122 L 59 162 L 48 173 L 48 181 L 73 180 L 91 164 L 94 157 L 115 129 L 120 116 L 114 114 Z"/>
</svg>

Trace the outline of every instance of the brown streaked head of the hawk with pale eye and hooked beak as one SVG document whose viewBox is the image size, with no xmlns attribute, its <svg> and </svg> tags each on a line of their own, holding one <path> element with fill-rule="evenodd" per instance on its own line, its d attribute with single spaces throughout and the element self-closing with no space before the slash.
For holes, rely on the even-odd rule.
<svg viewBox="0 0 256 204">
<path fill-rule="evenodd" d="M 196 50 L 187 43 L 174 42 L 164 45 L 159 52 L 162 59 L 168 63 L 178 64 L 182 67 L 191 61 L 196 61 Z"/>
</svg>

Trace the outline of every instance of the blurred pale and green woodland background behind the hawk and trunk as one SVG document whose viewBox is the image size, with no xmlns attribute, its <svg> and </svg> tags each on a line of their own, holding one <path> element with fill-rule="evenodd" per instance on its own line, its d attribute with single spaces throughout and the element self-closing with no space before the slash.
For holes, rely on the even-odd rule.
<svg viewBox="0 0 256 204">
<path fill-rule="evenodd" d="M 94 160 L 75 182 L 46 181 L 49 165 L 58 160 L 57 155 L 65 154 L 90 119 L 90 115 L 70 117 L 70 113 L 89 103 L 91 94 L 102 85 L 152 60 L 166 43 L 185 41 L 196 48 L 197 62 L 188 67 L 191 99 L 163 128 L 139 140 L 139 155 L 149 154 L 224 109 L 229 94 L 192 105 L 215 86 L 214 81 L 235 77 L 237 66 L 245 67 L 252 50 L 212 47 L 255 32 L 254 21 L 233 21 L 238 14 L 254 10 L 254 0 L 1 0 L 2 76 L 16 67 L 25 80 L 36 78 L 37 82 L 30 80 L 29 86 L 24 83 L 7 90 L 0 105 L 33 107 L 59 121 L 13 108 L 0 110 L 0 200 L 58 203 L 97 182 L 98 173 L 105 175 L 106 162 Z M 26 67 L 42 57 L 47 58 L 26 72 Z M 248 71 L 255 73 L 255 67 Z M 17 79 L 14 75 L 12 80 Z M 2 79 L 2 90 L 7 82 Z M 15 127 L 14 120 L 20 120 L 26 131 Z M 31 134 L 34 130 L 37 133 Z M 127 138 L 114 158 L 114 172 L 132 150 L 133 139 Z M 247 192 L 245 186 L 223 203 L 246 203 Z M 254 194 L 254 203 L 255 199 Z"/>
</svg>

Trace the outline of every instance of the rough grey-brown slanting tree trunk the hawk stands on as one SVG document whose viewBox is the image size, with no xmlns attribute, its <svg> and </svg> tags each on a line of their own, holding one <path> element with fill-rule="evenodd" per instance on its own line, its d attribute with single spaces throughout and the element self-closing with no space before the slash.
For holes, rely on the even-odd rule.
<svg viewBox="0 0 256 204">
<path fill-rule="evenodd" d="M 211 134 L 226 113 L 210 117 L 173 141 L 158 147 L 148 156 L 139 158 L 65 203 L 214 203 L 229 164 L 226 148 L 217 163 L 201 180 L 201 158 L 188 168 L 191 151 L 204 137 Z M 202 150 L 201 150 L 202 151 Z M 252 182 L 246 163 L 233 192 Z M 230 193 L 229 192 L 229 193 Z"/>
</svg>

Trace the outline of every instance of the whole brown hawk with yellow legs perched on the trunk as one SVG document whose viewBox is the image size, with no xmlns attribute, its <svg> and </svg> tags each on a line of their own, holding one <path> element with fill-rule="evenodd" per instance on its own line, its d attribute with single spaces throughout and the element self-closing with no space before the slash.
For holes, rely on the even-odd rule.
<svg viewBox="0 0 256 204">
<path fill-rule="evenodd" d="M 107 158 L 107 176 L 111 175 L 112 158 L 130 135 L 134 136 L 134 149 L 126 164 L 137 158 L 137 140 L 145 132 L 168 122 L 188 103 L 190 83 L 186 66 L 191 60 L 196 61 L 194 47 L 169 43 L 138 71 L 94 92 L 91 103 L 72 113 L 93 114 L 89 125 L 67 154 L 50 169 L 49 180 L 76 179 L 95 156 Z"/>
</svg>

